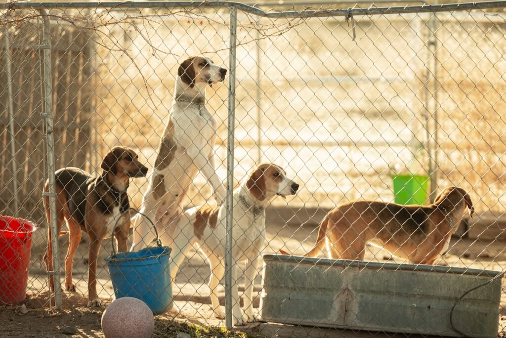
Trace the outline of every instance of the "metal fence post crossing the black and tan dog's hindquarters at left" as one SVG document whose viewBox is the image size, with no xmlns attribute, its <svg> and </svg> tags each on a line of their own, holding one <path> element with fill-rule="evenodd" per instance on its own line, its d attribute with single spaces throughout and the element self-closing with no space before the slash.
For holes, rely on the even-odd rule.
<svg viewBox="0 0 506 338">
<path fill-rule="evenodd" d="M 55 284 L 55 305 L 57 309 L 62 307 L 61 283 L 60 283 L 60 259 L 58 250 L 58 229 L 56 223 L 56 183 L 55 183 L 55 147 L 53 139 L 53 91 L 51 81 L 51 26 L 45 10 L 40 10 L 44 19 L 43 45 L 43 68 L 44 68 L 44 113 L 42 114 L 46 121 L 46 144 L 48 160 L 48 179 L 49 179 L 49 208 L 51 211 L 50 227 L 51 245 L 53 246 L 53 275 Z"/>
</svg>

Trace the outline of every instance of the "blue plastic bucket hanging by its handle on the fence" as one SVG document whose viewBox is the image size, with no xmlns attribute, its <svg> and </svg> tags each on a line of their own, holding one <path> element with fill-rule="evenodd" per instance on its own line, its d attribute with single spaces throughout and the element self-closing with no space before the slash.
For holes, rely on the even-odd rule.
<svg viewBox="0 0 506 338">
<path fill-rule="evenodd" d="M 170 254 L 170 247 L 157 246 L 106 258 L 116 299 L 138 298 L 155 315 L 170 310 L 173 302 Z"/>
</svg>

